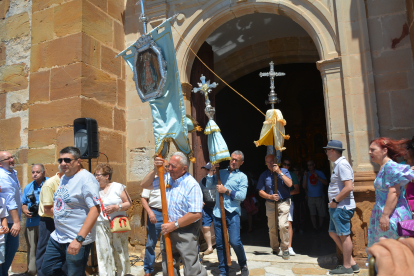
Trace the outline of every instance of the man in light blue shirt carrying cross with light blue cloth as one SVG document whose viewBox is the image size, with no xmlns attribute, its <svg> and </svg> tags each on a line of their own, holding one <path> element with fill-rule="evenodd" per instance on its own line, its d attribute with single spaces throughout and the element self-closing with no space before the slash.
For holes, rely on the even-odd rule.
<svg viewBox="0 0 414 276">
<path fill-rule="evenodd" d="M 224 209 L 226 213 L 227 229 L 229 232 L 229 243 L 236 253 L 241 269 L 241 275 L 249 275 L 247 258 L 240 239 L 240 204 L 246 198 L 248 180 L 247 176 L 240 171 L 244 163 L 244 154 L 236 150 L 231 154 L 230 166 L 228 169 L 220 170 L 221 185 L 217 185 L 216 205 L 213 209 L 214 231 L 216 234 L 217 256 L 219 259 L 220 275 L 229 275 L 227 257 L 224 247 L 224 235 L 222 230 L 220 195 L 223 194 Z M 218 165 L 216 165 L 218 166 Z M 207 182 L 212 181 L 212 176 L 207 176 Z M 217 180 L 215 180 L 217 184 Z"/>
</svg>

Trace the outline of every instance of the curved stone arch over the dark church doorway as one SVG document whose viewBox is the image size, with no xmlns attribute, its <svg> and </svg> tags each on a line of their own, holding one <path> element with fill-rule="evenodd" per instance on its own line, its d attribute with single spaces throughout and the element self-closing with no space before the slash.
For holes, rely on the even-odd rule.
<svg viewBox="0 0 414 276">
<path fill-rule="evenodd" d="M 179 31 L 189 46 L 197 52 L 206 38 L 225 22 L 255 12 L 274 13 L 289 17 L 304 28 L 315 43 L 321 60 L 338 57 L 339 43 L 330 20 L 309 1 L 297 2 L 300 3 L 293 4 L 288 0 L 243 2 L 235 5 L 228 5 L 225 1 L 219 4 L 208 2 L 193 18 L 184 21 Z M 177 40 L 176 52 L 181 82 L 188 83 L 195 56 L 182 39 Z"/>
</svg>

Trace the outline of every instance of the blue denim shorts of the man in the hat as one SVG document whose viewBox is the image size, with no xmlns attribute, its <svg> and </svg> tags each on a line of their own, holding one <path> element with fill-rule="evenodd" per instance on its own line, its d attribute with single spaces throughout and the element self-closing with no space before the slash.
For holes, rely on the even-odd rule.
<svg viewBox="0 0 414 276">
<path fill-rule="evenodd" d="M 355 209 L 329 208 L 329 232 L 334 232 L 338 236 L 351 234 L 351 219 Z"/>
</svg>

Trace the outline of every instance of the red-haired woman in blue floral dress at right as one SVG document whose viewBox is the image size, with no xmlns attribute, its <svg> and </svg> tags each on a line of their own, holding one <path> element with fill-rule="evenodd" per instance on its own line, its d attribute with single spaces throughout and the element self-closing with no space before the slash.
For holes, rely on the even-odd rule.
<svg viewBox="0 0 414 276">
<path fill-rule="evenodd" d="M 368 246 L 380 237 L 396 239 L 397 223 L 411 219 L 411 211 L 404 197 L 405 185 L 414 179 L 410 167 L 395 162 L 403 156 L 407 140 L 378 138 L 371 142 L 369 154 L 373 162 L 381 166 L 374 182 L 375 205 L 368 228 Z"/>
</svg>

